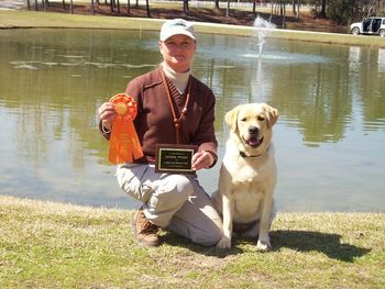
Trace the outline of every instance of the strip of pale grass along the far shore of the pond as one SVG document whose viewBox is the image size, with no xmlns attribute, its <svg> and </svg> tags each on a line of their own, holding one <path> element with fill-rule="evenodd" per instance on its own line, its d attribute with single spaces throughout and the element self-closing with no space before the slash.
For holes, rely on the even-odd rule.
<svg viewBox="0 0 385 289">
<path fill-rule="evenodd" d="M 84 29 L 123 29 L 123 30 L 156 30 L 163 20 L 143 18 L 111 18 L 102 15 L 75 15 L 53 12 L 34 11 L 1 11 L 0 29 L 12 27 L 84 27 Z M 199 33 L 216 33 L 251 36 L 255 30 L 251 26 L 223 25 L 199 22 L 196 24 Z M 385 47 L 385 38 L 378 36 L 355 36 L 337 33 L 316 33 L 294 30 L 271 30 L 271 37 L 293 41 L 321 42 L 349 45 L 370 45 Z"/>
</svg>

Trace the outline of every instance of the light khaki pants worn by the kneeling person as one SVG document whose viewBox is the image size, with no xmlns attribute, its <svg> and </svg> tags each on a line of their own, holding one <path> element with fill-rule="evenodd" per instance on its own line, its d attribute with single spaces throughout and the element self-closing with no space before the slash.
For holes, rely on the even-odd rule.
<svg viewBox="0 0 385 289">
<path fill-rule="evenodd" d="M 156 174 L 152 165 L 118 166 L 119 186 L 143 202 L 148 221 L 211 246 L 222 236 L 222 222 L 195 176 Z"/>
</svg>

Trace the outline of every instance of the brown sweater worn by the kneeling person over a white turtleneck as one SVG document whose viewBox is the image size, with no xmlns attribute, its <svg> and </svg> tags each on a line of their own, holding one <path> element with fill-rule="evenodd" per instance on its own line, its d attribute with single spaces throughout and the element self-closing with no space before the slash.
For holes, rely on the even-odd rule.
<svg viewBox="0 0 385 289">
<path fill-rule="evenodd" d="M 162 80 L 162 67 L 131 80 L 125 92 L 138 104 L 134 125 L 144 157 L 135 163 L 154 163 L 156 144 L 175 144 L 176 133 L 173 113 Z M 215 135 L 215 96 L 206 85 L 191 77 L 190 99 L 182 121 L 180 144 L 198 145 L 198 151 L 208 151 L 217 162 Z M 183 110 L 186 96 L 174 99 L 178 112 Z M 177 115 L 177 116 L 178 116 Z M 109 140 L 109 134 L 103 134 Z M 216 163 L 215 162 L 215 163 Z M 215 165 L 213 163 L 213 165 Z"/>
</svg>

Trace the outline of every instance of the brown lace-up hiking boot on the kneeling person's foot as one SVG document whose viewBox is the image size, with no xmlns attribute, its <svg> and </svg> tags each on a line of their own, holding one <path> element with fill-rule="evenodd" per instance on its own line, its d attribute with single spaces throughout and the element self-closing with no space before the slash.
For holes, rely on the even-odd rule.
<svg viewBox="0 0 385 289">
<path fill-rule="evenodd" d="M 142 246 L 158 246 L 157 225 L 145 219 L 142 209 L 138 210 L 132 219 L 132 230 L 134 232 L 138 244 Z"/>
</svg>

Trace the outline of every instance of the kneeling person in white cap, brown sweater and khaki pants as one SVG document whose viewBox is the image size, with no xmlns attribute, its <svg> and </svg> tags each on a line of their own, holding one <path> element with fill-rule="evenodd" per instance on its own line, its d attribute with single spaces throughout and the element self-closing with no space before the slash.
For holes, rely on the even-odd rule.
<svg viewBox="0 0 385 289">
<path fill-rule="evenodd" d="M 157 174 L 154 169 L 156 144 L 193 144 L 193 169 L 212 167 L 217 162 L 215 136 L 215 96 L 190 75 L 197 48 L 191 23 L 175 19 L 161 30 L 158 68 L 136 77 L 127 88 L 138 104 L 134 126 L 144 156 L 119 165 L 120 187 L 143 203 L 133 218 L 139 244 L 157 246 L 158 227 L 210 246 L 222 236 L 220 216 L 195 175 Z M 100 130 L 106 138 L 117 118 L 112 103 L 99 108 Z"/>
</svg>

